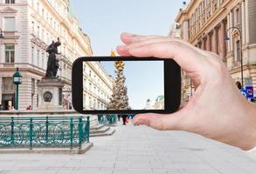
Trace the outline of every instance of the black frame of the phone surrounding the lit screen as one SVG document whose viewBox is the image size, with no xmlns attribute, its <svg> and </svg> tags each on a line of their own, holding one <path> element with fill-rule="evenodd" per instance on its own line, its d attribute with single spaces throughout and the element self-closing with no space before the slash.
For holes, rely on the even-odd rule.
<svg viewBox="0 0 256 174">
<path fill-rule="evenodd" d="M 164 110 L 83 110 L 83 62 L 119 60 L 164 62 Z M 73 62 L 72 100 L 73 109 L 81 114 L 172 113 L 179 108 L 181 102 L 181 69 L 172 59 L 156 57 L 80 57 Z"/>
</svg>

